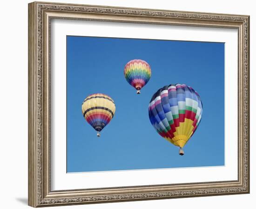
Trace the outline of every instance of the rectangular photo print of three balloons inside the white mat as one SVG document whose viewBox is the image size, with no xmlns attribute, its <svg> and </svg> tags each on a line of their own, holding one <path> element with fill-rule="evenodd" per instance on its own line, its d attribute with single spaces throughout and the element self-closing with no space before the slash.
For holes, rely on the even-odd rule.
<svg viewBox="0 0 256 209">
<path fill-rule="evenodd" d="M 67 36 L 67 173 L 224 166 L 224 50 Z"/>
</svg>

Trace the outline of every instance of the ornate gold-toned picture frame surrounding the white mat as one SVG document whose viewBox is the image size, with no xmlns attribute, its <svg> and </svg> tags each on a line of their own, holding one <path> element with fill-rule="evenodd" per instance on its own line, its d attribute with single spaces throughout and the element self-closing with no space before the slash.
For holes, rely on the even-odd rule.
<svg viewBox="0 0 256 209">
<path fill-rule="evenodd" d="M 238 31 L 237 180 L 51 189 L 51 21 L 84 20 Z M 189 36 L 189 34 L 188 34 Z M 234 73 L 236 73 L 234 71 Z M 249 16 L 140 8 L 28 4 L 28 205 L 32 207 L 249 193 Z"/>
</svg>

